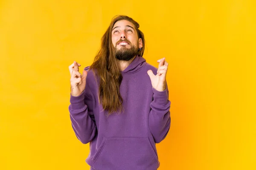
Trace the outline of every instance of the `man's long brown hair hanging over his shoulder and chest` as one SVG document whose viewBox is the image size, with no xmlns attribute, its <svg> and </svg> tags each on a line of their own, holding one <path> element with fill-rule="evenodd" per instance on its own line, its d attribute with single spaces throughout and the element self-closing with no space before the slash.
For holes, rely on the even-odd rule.
<svg viewBox="0 0 256 170">
<path fill-rule="evenodd" d="M 122 111 L 122 96 L 119 87 L 122 82 L 122 74 L 119 71 L 119 65 L 116 59 L 115 47 L 112 43 L 112 28 L 119 20 L 128 20 L 134 24 L 138 33 L 138 38 L 142 39 L 143 47 L 138 51 L 139 56 L 143 56 L 145 39 L 142 31 L 139 30 L 139 23 L 126 15 L 117 15 L 111 20 L 105 34 L 101 39 L 101 48 L 99 49 L 90 69 L 93 69 L 94 75 L 100 78 L 99 83 L 99 102 L 103 109 L 108 111 L 108 115 L 116 111 Z M 96 71 L 96 72 L 95 72 Z"/>
</svg>

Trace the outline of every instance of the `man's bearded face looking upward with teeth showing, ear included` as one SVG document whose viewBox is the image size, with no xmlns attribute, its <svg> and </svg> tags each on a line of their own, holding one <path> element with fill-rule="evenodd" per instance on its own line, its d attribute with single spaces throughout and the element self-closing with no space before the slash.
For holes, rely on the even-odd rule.
<svg viewBox="0 0 256 170">
<path fill-rule="evenodd" d="M 133 23 L 127 20 L 117 21 L 112 29 L 112 43 L 116 49 L 116 58 L 128 61 L 142 48 L 142 39 L 138 38 Z"/>
</svg>

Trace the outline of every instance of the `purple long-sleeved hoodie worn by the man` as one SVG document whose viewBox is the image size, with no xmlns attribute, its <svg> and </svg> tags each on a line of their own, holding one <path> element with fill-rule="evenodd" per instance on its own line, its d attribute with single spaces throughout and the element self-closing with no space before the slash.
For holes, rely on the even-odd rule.
<svg viewBox="0 0 256 170">
<path fill-rule="evenodd" d="M 85 161 L 91 170 L 157 170 L 160 166 L 156 143 L 169 132 L 171 102 L 167 85 L 161 92 L 152 88 L 148 70 L 157 74 L 157 68 L 136 56 L 121 72 L 125 112 L 120 114 L 106 116 L 98 100 L 99 77 L 95 79 L 92 71 L 82 94 L 70 95 L 72 127 L 83 144 L 90 142 Z"/>
</svg>

